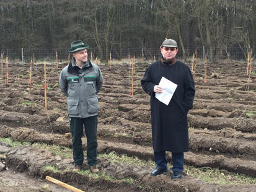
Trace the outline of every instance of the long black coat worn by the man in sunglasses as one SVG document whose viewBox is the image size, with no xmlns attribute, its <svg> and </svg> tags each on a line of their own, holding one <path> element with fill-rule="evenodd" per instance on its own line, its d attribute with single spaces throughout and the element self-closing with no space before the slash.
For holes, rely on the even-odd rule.
<svg viewBox="0 0 256 192">
<path fill-rule="evenodd" d="M 160 102 L 154 92 L 154 85 L 158 85 L 163 76 L 178 85 L 168 106 Z M 195 84 L 188 66 L 180 61 L 170 65 L 156 61 L 146 69 L 141 85 L 151 95 L 154 152 L 188 151 L 187 112 L 193 107 L 195 96 Z"/>
</svg>

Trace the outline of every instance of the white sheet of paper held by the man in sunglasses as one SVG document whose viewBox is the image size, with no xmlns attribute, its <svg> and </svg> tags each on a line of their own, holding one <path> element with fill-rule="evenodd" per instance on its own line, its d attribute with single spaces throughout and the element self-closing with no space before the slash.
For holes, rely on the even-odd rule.
<svg viewBox="0 0 256 192">
<path fill-rule="evenodd" d="M 162 92 L 161 94 L 156 93 L 156 98 L 162 103 L 169 105 L 172 95 L 174 95 L 178 85 L 165 77 L 162 77 L 161 81 L 159 82 L 159 86 L 162 87 Z"/>
</svg>

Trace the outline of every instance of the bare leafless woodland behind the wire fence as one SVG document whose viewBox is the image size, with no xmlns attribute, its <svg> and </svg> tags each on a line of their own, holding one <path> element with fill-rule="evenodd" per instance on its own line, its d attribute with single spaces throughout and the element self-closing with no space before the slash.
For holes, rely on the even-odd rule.
<svg viewBox="0 0 256 192">
<path fill-rule="evenodd" d="M 102 59 L 110 51 L 157 48 L 165 38 L 183 56 L 210 58 L 256 46 L 256 2 L 244 0 L 1 0 L 0 50 L 70 48 L 82 40 Z"/>
</svg>

